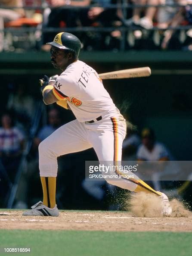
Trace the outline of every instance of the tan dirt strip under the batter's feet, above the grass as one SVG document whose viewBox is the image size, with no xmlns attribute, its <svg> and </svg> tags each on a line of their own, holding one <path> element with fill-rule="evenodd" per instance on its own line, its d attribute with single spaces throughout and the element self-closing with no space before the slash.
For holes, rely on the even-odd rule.
<svg viewBox="0 0 192 256">
<path fill-rule="evenodd" d="M 130 212 L 61 211 L 59 217 L 22 216 L 22 211 L 0 211 L 0 229 L 90 231 L 192 231 L 188 217 L 140 218 Z"/>
</svg>

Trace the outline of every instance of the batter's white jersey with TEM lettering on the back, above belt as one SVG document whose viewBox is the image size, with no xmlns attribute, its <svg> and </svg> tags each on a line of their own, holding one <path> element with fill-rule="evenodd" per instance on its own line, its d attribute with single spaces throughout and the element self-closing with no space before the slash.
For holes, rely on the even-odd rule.
<svg viewBox="0 0 192 256">
<path fill-rule="evenodd" d="M 117 114 L 117 108 L 97 72 L 80 60 L 71 63 L 59 75 L 53 93 L 59 100 L 67 99 L 79 122 Z"/>
</svg>

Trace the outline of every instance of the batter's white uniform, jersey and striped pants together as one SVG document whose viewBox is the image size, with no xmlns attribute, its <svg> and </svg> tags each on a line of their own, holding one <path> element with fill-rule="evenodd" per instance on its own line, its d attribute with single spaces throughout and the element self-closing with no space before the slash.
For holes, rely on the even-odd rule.
<svg viewBox="0 0 192 256">
<path fill-rule="evenodd" d="M 94 69 L 79 60 L 71 63 L 56 79 L 53 94 L 58 100 L 67 99 L 77 119 L 62 125 L 40 143 L 40 176 L 56 177 L 58 156 L 91 147 L 99 161 L 121 161 L 126 122 Z M 131 191 L 137 186 L 124 178 L 106 180 Z"/>
</svg>

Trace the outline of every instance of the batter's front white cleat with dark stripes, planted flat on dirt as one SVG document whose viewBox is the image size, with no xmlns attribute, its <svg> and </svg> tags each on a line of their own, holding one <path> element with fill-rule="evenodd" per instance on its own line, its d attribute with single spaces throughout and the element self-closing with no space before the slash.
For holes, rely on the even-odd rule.
<svg viewBox="0 0 192 256">
<path fill-rule="evenodd" d="M 49 208 L 41 201 L 31 206 L 31 210 L 27 210 L 23 212 L 22 215 L 24 216 L 53 216 L 57 217 L 59 216 L 59 210 L 57 209 L 57 205 L 54 208 Z"/>
</svg>

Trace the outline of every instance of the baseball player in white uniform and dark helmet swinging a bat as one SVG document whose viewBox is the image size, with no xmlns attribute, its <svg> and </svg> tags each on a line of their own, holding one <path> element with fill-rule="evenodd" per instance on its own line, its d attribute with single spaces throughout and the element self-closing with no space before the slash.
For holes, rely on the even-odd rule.
<svg viewBox="0 0 192 256">
<path fill-rule="evenodd" d="M 71 109 L 75 120 L 61 126 L 39 145 L 39 169 L 43 202 L 23 215 L 58 216 L 56 205 L 57 157 L 93 147 L 99 161 L 121 161 L 126 122 L 103 87 L 97 72 L 78 59 L 80 40 L 73 34 L 57 34 L 51 45 L 51 62 L 61 75 L 41 80 L 43 102 L 57 103 Z M 70 174 L 69 174 L 70 177 Z M 125 178 L 106 180 L 112 185 L 134 191 L 153 193 L 162 198 L 162 213 L 171 207 L 165 194 L 153 190 L 144 181 Z"/>
</svg>

